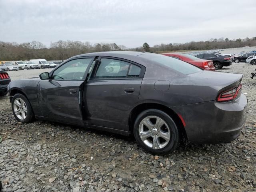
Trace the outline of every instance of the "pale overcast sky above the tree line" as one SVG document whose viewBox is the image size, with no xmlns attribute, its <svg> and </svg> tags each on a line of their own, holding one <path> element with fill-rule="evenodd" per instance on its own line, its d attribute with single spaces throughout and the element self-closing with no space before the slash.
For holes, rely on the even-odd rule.
<svg viewBox="0 0 256 192">
<path fill-rule="evenodd" d="M 0 41 L 128 48 L 256 36 L 255 0 L 0 0 Z"/>
</svg>

